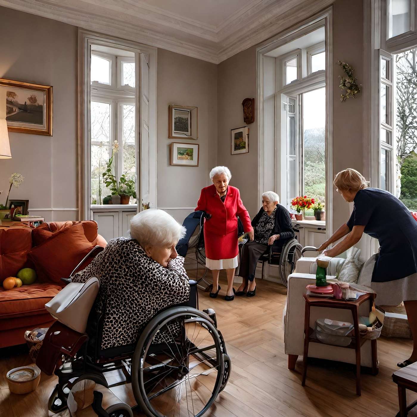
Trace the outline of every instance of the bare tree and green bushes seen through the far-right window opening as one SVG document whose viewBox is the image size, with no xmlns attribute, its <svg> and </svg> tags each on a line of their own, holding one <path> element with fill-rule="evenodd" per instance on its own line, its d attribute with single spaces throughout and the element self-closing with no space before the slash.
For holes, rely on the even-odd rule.
<svg viewBox="0 0 417 417">
<path fill-rule="evenodd" d="M 396 55 L 397 161 L 401 181 L 399 199 L 417 209 L 417 48 Z"/>
</svg>

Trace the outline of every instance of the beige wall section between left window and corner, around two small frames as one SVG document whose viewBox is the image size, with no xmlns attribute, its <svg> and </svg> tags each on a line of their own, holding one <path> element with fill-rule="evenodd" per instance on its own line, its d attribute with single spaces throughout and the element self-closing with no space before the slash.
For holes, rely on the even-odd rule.
<svg viewBox="0 0 417 417">
<path fill-rule="evenodd" d="M 182 221 L 196 207 L 217 159 L 217 65 L 158 49 L 158 207 Z M 168 106 L 198 107 L 198 140 L 168 139 Z M 198 143 L 198 167 L 170 166 L 171 142 Z M 188 208 L 186 208 L 188 207 Z"/>
</svg>

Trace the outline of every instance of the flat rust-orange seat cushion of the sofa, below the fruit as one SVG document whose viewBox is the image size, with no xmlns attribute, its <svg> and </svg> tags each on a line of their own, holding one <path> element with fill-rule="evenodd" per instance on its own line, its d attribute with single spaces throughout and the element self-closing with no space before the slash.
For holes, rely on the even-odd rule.
<svg viewBox="0 0 417 417">
<path fill-rule="evenodd" d="M 0 291 L 0 320 L 45 313 L 45 304 L 61 288 L 60 285 L 35 282 L 32 285 Z"/>
</svg>

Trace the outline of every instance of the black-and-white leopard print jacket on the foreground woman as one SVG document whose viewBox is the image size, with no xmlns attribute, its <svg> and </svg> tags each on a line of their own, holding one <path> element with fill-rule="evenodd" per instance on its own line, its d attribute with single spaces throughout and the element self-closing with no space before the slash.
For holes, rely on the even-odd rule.
<svg viewBox="0 0 417 417">
<path fill-rule="evenodd" d="M 158 311 L 187 301 L 190 296 L 184 258 L 171 259 L 165 268 L 149 258 L 134 239 L 113 239 L 90 265 L 73 277 L 100 280 L 93 308 L 105 310 L 101 348 L 136 342 L 139 332 Z"/>
</svg>

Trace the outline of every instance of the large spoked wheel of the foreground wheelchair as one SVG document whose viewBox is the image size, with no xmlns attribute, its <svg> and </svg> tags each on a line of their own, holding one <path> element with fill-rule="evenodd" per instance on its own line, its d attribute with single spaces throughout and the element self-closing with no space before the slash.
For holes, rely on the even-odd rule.
<svg viewBox="0 0 417 417">
<path fill-rule="evenodd" d="M 203 415 L 224 386 L 225 360 L 213 320 L 173 307 L 143 330 L 132 361 L 136 402 L 148 417 Z"/>
</svg>

